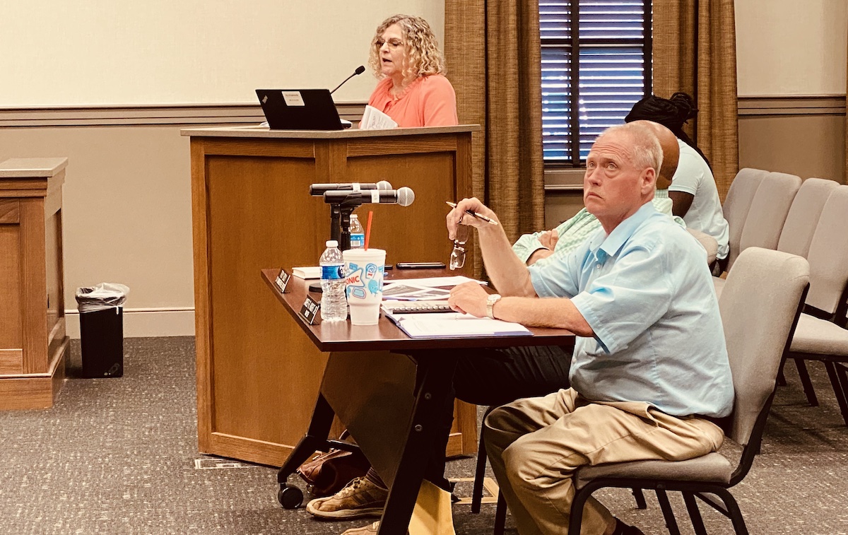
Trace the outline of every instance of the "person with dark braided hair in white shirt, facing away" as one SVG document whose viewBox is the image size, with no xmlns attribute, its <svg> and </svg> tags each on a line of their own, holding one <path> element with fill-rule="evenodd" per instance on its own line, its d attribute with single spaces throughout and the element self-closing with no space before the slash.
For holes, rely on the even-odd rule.
<svg viewBox="0 0 848 535">
<path fill-rule="evenodd" d="M 689 228 L 715 238 L 718 242 L 718 274 L 721 274 L 727 266 L 730 252 L 728 221 L 724 219 L 710 163 L 683 131 L 683 123 L 697 114 L 695 103 L 686 93 L 674 93 L 671 99 L 650 95 L 633 105 L 624 122 L 654 121 L 666 126 L 678 138 L 680 161 L 668 188 L 668 196 L 674 203 L 672 213 L 682 217 Z"/>
</svg>

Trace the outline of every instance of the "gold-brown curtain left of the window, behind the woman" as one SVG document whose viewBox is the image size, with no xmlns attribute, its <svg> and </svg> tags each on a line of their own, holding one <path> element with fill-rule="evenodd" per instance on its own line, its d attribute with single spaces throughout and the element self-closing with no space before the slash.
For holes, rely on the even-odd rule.
<svg viewBox="0 0 848 535">
<path fill-rule="evenodd" d="M 460 123 L 483 126 L 473 137 L 474 195 L 510 241 L 542 229 L 538 0 L 445 0 L 444 51 Z"/>
</svg>

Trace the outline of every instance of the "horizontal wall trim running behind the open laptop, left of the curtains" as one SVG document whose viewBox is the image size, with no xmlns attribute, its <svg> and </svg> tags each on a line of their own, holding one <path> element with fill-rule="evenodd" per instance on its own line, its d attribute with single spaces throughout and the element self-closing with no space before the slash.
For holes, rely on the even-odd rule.
<svg viewBox="0 0 848 535">
<path fill-rule="evenodd" d="M 360 120 L 364 102 L 338 103 L 342 119 Z M 241 125 L 265 120 L 256 104 L 0 108 L 0 128 L 137 125 Z"/>
</svg>

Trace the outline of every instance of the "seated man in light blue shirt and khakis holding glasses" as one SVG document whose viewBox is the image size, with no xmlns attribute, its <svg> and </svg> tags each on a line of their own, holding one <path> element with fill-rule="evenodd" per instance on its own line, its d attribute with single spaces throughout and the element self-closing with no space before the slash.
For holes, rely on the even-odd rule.
<svg viewBox="0 0 848 535">
<path fill-rule="evenodd" d="M 562 533 L 583 465 L 685 460 L 715 451 L 730 413 L 733 382 L 705 252 L 656 212 L 656 137 L 642 125 L 614 126 L 594 142 L 583 200 L 602 229 L 544 266 L 509 254 L 501 226 L 476 198 L 448 215 L 449 235 L 477 227 L 486 270 L 504 297 L 477 284 L 451 292 L 451 308 L 577 335 L 572 387 L 492 411 L 483 436 L 518 532 Z M 638 534 L 590 499 L 583 533 Z"/>
</svg>

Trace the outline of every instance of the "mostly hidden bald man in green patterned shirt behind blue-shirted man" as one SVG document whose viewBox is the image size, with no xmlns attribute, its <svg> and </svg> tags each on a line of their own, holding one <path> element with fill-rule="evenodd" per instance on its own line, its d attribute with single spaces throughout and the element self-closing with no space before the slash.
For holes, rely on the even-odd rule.
<svg viewBox="0 0 848 535">
<path fill-rule="evenodd" d="M 672 183 L 672 176 L 678 169 L 680 156 L 678 138 L 674 137 L 672 131 L 659 123 L 644 120 L 639 121 L 639 124 L 648 126 L 654 131 L 662 148 L 662 169 L 656 176 L 654 208 L 662 214 L 672 215 L 672 200 L 668 198 L 668 187 Z M 679 217 L 676 217 L 675 220 L 680 225 L 686 226 Z M 598 218 L 589 214 L 589 211 L 583 208 L 577 212 L 577 215 L 563 221 L 552 231 L 523 235 L 513 244 L 512 250 L 527 265 L 533 265 L 537 262 L 538 265 L 545 265 L 561 255 L 571 253 L 598 229 L 600 229 Z"/>
</svg>

